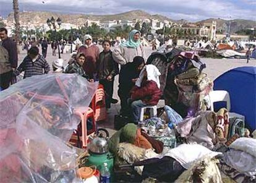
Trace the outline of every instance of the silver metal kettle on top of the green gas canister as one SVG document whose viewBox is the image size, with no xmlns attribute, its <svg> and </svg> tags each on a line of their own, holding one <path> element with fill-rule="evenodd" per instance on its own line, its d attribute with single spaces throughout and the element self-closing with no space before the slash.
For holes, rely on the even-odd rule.
<svg viewBox="0 0 256 183">
<path fill-rule="evenodd" d="M 105 136 L 101 132 L 105 132 Z M 108 153 L 108 138 L 109 132 L 106 129 L 100 128 L 96 130 L 92 141 L 89 143 L 89 153 L 103 154 Z"/>
</svg>

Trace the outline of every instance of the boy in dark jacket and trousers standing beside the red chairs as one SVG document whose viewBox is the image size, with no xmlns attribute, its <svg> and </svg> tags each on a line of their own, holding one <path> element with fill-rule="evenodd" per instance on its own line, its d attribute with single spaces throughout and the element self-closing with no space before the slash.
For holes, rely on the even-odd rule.
<svg viewBox="0 0 256 183">
<path fill-rule="evenodd" d="M 119 68 L 112 57 L 111 42 L 105 40 L 102 45 L 103 51 L 100 53 L 96 66 L 98 67 L 98 79 L 106 91 L 106 108 L 110 108 L 111 103 L 117 103 L 117 100 L 113 99 L 113 87 L 114 77 L 119 73 Z"/>
</svg>

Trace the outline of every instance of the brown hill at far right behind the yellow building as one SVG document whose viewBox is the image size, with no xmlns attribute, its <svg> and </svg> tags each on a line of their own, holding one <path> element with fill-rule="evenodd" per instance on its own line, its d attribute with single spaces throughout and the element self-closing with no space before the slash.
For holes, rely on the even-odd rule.
<svg viewBox="0 0 256 183">
<path fill-rule="evenodd" d="M 237 32 L 237 30 L 242 30 L 245 28 L 254 28 L 256 27 L 256 21 L 254 20 L 242 20 L 242 19 L 234 19 L 234 20 L 223 20 L 223 19 L 207 19 L 202 20 L 197 23 L 203 23 L 203 22 L 210 22 L 210 21 L 216 21 L 217 22 L 217 29 L 218 30 L 224 30 L 224 32 L 228 32 L 228 26 L 230 23 L 230 31 L 231 33 Z"/>
</svg>

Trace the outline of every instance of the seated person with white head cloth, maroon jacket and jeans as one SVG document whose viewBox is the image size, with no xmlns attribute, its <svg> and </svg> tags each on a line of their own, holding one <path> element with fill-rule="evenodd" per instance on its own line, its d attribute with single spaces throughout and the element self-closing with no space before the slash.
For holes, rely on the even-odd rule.
<svg viewBox="0 0 256 183">
<path fill-rule="evenodd" d="M 154 65 L 146 65 L 140 72 L 139 79 L 132 88 L 129 99 L 132 117 L 135 123 L 139 122 L 140 109 L 145 106 L 154 106 L 161 98 L 161 73 Z"/>
</svg>

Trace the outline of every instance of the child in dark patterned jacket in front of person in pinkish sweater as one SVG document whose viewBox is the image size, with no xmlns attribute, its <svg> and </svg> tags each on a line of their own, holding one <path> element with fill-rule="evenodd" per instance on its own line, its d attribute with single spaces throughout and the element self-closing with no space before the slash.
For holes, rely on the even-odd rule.
<svg viewBox="0 0 256 183">
<path fill-rule="evenodd" d="M 93 79 L 90 79 L 88 75 L 83 70 L 83 63 L 85 62 L 85 55 L 83 53 L 77 54 L 76 60 L 74 62 L 69 63 L 69 65 L 64 70 L 64 73 L 67 74 L 79 74 L 82 77 L 85 77 L 89 82 L 93 82 Z"/>
</svg>

